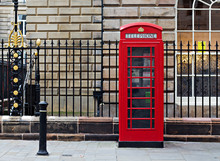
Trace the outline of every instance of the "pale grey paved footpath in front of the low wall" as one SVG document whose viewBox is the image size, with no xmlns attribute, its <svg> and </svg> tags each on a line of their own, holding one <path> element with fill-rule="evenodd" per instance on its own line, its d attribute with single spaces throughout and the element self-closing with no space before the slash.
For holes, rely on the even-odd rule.
<svg viewBox="0 0 220 161">
<path fill-rule="evenodd" d="M 39 142 L 0 140 L 0 161 L 220 161 L 220 143 L 165 142 L 165 148 L 118 148 L 113 141 L 48 141 L 49 156 L 37 156 Z"/>
</svg>

